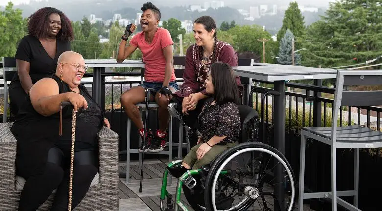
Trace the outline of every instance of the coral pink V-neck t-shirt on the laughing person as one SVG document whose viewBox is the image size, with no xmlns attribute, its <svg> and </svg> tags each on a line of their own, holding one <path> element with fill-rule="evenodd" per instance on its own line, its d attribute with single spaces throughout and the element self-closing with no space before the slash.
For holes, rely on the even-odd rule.
<svg viewBox="0 0 382 211">
<path fill-rule="evenodd" d="M 174 44 L 170 32 L 167 29 L 159 27 L 154 34 L 151 44 L 144 39 L 144 32 L 137 33 L 130 40 L 130 44 L 138 47 L 143 55 L 145 63 L 144 80 L 147 82 L 163 82 L 165 79 L 166 59 L 163 55 L 163 48 Z M 175 72 L 172 68 L 170 81 L 175 81 Z"/>
</svg>

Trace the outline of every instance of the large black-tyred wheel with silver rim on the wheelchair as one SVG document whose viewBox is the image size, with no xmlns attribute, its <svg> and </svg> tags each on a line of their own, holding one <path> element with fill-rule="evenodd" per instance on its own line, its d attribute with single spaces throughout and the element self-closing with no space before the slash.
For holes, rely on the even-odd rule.
<svg viewBox="0 0 382 211">
<path fill-rule="evenodd" d="M 283 181 L 273 171 L 282 167 Z M 282 185 L 284 199 L 278 200 Z M 275 148 L 259 142 L 239 144 L 221 154 L 206 178 L 207 211 L 292 211 L 295 203 L 295 176 L 287 159 Z"/>
</svg>

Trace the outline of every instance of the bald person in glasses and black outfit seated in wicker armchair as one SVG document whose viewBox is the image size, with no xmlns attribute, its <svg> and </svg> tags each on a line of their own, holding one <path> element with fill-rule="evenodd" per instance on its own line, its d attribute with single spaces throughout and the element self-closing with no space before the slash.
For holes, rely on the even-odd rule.
<svg viewBox="0 0 382 211">
<path fill-rule="evenodd" d="M 109 128 L 110 124 L 80 84 L 85 71 L 80 54 L 62 53 L 55 75 L 32 86 L 11 127 L 17 140 L 16 175 L 26 179 L 19 211 L 35 211 L 54 189 L 57 191 L 51 210 L 68 210 L 73 107 L 77 111 L 73 209 L 81 202 L 98 172 L 97 133 L 104 124 Z M 69 101 L 73 106 L 62 109 L 61 127 L 62 101 Z"/>
</svg>

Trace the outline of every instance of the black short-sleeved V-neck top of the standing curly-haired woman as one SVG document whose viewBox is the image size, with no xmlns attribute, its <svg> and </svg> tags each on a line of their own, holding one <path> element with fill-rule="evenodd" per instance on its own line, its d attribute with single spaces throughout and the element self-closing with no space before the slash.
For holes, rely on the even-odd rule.
<svg viewBox="0 0 382 211">
<path fill-rule="evenodd" d="M 56 45 L 56 55 L 54 58 L 51 58 L 37 37 L 26 35 L 21 39 L 16 50 L 15 58 L 30 63 L 29 75 L 33 84 L 42 78 L 55 74 L 58 57 L 63 52 L 71 50 L 69 41 L 57 39 Z M 15 74 L 12 81 L 18 80 L 18 74 Z"/>
</svg>

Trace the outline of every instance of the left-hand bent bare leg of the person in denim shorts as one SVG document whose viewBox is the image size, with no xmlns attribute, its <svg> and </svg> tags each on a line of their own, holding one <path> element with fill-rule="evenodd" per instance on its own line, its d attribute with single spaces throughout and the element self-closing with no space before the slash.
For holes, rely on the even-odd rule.
<svg viewBox="0 0 382 211">
<path fill-rule="evenodd" d="M 121 105 L 123 106 L 127 116 L 134 122 L 138 129 L 144 127 L 141 114 L 135 104 L 144 101 L 146 92 L 142 86 L 133 87 L 124 92 L 120 97 Z"/>
</svg>

